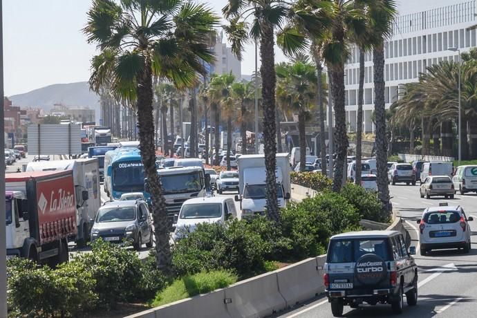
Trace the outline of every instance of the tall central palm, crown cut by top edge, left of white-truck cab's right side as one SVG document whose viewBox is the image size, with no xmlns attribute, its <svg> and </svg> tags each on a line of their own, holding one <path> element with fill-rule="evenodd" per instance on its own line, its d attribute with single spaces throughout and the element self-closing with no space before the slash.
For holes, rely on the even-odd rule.
<svg viewBox="0 0 477 318">
<path fill-rule="evenodd" d="M 241 59 L 243 44 L 249 37 L 259 41 L 262 76 L 262 108 L 263 108 L 263 144 L 265 146 L 265 171 L 267 215 L 270 220 L 279 222 L 277 200 L 277 142 L 275 140 L 277 125 L 275 122 L 275 75 L 274 62 L 274 30 L 279 28 L 290 12 L 290 5 L 281 0 L 228 0 L 223 14 L 230 25 L 225 26 L 232 51 Z M 252 17 L 250 33 L 245 23 Z"/>
</svg>

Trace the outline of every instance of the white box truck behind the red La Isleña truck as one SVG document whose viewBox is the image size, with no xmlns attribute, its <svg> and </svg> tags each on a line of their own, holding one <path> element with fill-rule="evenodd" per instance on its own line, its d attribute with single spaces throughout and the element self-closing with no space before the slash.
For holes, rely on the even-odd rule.
<svg viewBox="0 0 477 318">
<path fill-rule="evenodd" d="M 97 158 L 29 162 L 26 171 L 73 171 L 76 198 L 75 241 L 82 247 L 90 238 L 96 212 L 101 206 L 100 167 Z M 86 196 L 84 191 L 88 192 Z"/>
</svg>

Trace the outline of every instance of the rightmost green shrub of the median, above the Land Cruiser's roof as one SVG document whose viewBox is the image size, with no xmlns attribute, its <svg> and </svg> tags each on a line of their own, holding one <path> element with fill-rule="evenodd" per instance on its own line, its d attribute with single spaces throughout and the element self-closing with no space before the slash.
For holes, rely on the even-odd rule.
<svg viewBox="0 0 477 318">
<path fill-rule="evenodd" d="M 381 202 L 374 192 L 366 191 L 359 185 L 347 183 L 342 188 L 341 195 L 357 208 L 361 218 L 375 222 L 389 221 L 389 214 L 382 212 Z"/>
</svg>

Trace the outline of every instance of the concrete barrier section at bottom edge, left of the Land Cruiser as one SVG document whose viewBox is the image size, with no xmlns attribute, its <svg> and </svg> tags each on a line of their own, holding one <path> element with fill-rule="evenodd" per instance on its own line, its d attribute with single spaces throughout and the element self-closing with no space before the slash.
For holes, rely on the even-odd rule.
<svg viewBox="0 0 477 318">
<path fill-rule="evenodd" d="M 276 272 L 261 274 L 225 288 L 225 302 L 232 318 L 265 317 L 286 308 Z"/>
</svg>

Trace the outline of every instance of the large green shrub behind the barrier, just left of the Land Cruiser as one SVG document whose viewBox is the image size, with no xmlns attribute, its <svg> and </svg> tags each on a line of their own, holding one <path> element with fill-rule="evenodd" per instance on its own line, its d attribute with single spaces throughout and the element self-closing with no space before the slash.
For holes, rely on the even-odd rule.
<svg viewBox="0 0 477 318">
<path fill-rule="evenodd" d="M 339 194 L 326 192 L 292 203 L 281 211 L 281 232 L 291 245 L 283 255 L 296 260 L 324 254 L 331 235 L 357 228 L 357 209 Z"/>
</svg>

